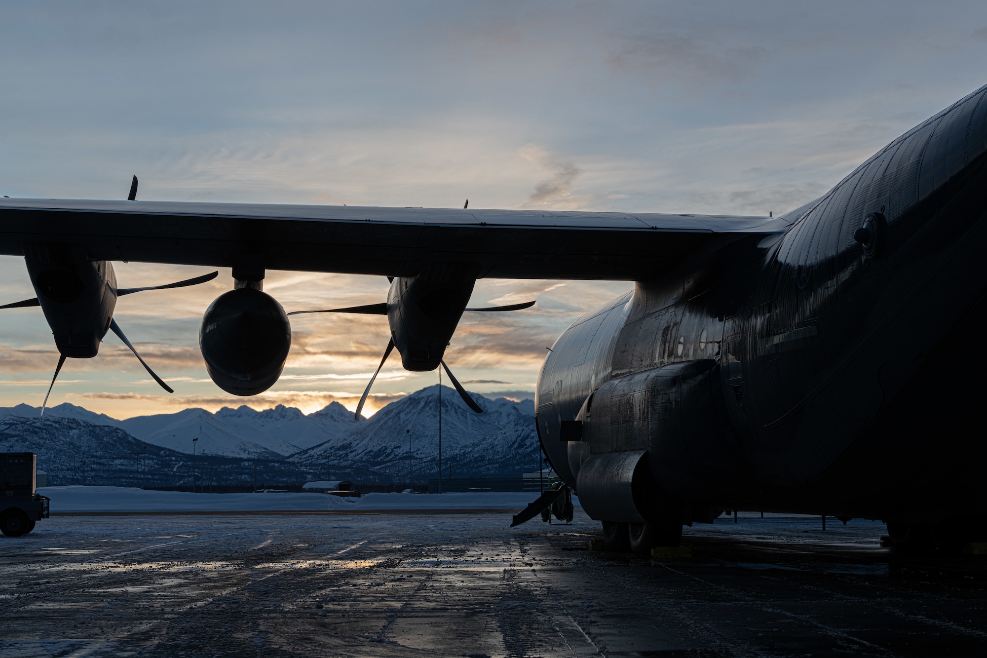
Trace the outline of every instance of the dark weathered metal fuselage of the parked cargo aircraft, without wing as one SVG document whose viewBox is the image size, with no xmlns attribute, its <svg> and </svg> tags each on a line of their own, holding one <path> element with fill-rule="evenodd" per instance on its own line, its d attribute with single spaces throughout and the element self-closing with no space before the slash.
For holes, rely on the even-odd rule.
<svg viewBox="0 0 987 658">
<path fill-rule="evenodd" d="M 987 448 L 970 428 L 987 392 L 972 356 L 987 321 L 987 88 L 777 224 L 560 337 L 536 398 L 556 470 L 576 484 L 559 428 L 594 394 L 574 452 L 646 449 L 657 485 L 686 501 L 983 513 Z"/>
</svg>

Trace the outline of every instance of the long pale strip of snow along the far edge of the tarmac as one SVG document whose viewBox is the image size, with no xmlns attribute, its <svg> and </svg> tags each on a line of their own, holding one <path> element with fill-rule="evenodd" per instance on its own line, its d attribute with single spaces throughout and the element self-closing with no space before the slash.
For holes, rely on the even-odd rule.
<svg viewBox="0 0 987 658">
<path fill-rule="evenodd" d="M 441 495 L 371 493 L 341 498 L 321 493 L 230 493 L 154 491 L 130 487 L 71 485 L 39 487 L 51 512 L 266 512 L 292 510 L 520 510 L 538 497 L 532 492 L 477 492 Z M 578 507 L 578 500 L 572 501 Z"/>
</svg>

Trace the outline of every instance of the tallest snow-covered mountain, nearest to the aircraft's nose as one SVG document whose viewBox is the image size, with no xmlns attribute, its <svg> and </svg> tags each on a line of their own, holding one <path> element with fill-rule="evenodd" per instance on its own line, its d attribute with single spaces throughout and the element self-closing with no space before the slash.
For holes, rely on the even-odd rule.
<svg viewBox="0 0 987 658">
<path fill-rule="evenodd" d="M 453 477 L 537 470 L 534 402 L 472 397 L 484 413 L 474 413 L 455 389 L 442 387 L 443 476 L 450 465 Z M 334 476 L 387 480 L 407 478 L 411 451 L 414 478 L 437 477 L 438 408 L 436 384 L 392 402 L 347 435 L 289 458 L 312 469 L 325 464 Z"/>
</svg>

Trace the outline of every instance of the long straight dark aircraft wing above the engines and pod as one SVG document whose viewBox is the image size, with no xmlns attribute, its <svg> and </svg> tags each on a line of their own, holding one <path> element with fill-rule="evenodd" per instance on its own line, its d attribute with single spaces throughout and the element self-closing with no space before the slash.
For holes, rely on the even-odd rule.
<svg viewBox="0 0 987 658">
<path fill-rule="evenodd" d="M 481 278 L 643 281 L 775 217 L 421 207 L 0 200 L 0 254 L 24 243 L 93 260 L 407 277 L 476 263 Z M 238 260 L 241 259 L 241 260 Z"/>
</svg>

